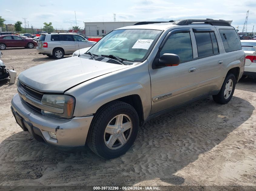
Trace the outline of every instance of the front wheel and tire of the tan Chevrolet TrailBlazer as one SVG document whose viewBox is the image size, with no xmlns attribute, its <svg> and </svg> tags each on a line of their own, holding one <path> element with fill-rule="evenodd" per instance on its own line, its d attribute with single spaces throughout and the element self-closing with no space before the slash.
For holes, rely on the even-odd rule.
<svg viewBox="0 0 256 191">
<path fill-rule="evenodd" d="M 125 154 L 132 146 L 138 128 L 139 117 L 136 110 L 128 103 L 113 101 L 95 114 L 86 142 L 98 156 L 106 159 L 116 158 Z"/>
</svg>

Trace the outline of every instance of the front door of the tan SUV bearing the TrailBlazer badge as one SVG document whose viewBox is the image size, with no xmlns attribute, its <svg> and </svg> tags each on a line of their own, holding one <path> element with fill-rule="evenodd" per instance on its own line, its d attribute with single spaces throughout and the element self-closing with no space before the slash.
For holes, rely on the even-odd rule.
<svg viewBox="0 0 256 191">
<path fill-rule="evenodd" d="M 157 58 L 165 53 L 177 54 L 181 63 L 177 66 L 149 68 L 151 78 L 151 114 L 174 107 L 196 97 L 194 89 L 198 86 L 196 60 L 193 59 L 189 28 L 172 30 Z"/>
</svg>

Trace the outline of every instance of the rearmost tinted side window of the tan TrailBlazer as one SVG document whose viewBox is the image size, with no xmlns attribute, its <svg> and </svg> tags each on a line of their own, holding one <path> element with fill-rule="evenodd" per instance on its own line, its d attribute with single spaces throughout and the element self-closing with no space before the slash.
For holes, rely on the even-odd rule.
<svg viewBox="0 0 256 191">
<path fill-rule="evenodd" d="M 219 29 L 219 32 L 227 53 L 242 49 L 240 39 L 234 29 Z"/>
</svg>

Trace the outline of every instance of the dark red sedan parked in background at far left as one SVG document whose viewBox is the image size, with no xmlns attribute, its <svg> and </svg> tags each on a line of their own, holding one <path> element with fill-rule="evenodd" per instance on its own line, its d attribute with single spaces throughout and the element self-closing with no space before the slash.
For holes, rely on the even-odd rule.
<svg viewBox="0 0 256 191">
<path fill-rule="evenodd" d="M 25 47 L 34 48 L 37 42 L 33 39 L 24 39 L 17 35 L 1 35 L 0 36 L 0 50 L 7 47 Z"/>
</svg>

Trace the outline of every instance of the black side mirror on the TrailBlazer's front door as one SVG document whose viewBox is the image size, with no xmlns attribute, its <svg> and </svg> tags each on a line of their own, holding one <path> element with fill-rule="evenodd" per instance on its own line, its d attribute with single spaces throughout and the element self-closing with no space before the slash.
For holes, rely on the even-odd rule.
<svg viewBox="0 0 256 191">
<path fill-rule="evenodd" d="M 163 54 L 156 60 L 156 66 L 177 66 L 180 64 L 180 57 L 177 54 Z"/>
</svg>

